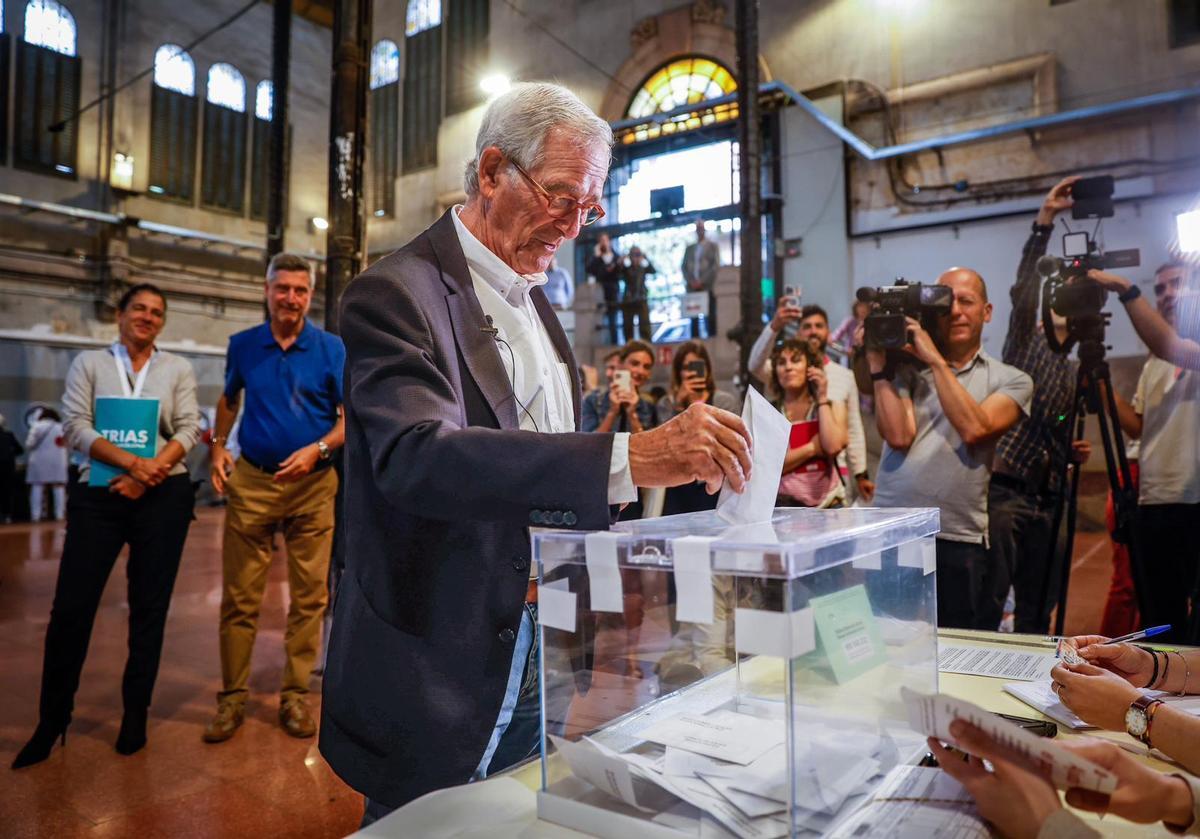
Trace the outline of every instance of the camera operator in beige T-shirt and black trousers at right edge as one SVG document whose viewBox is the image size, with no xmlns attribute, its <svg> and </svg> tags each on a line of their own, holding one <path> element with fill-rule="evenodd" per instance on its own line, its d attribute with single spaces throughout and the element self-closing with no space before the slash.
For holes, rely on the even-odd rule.
<svg viewBox="0 0 1200 839">
<path fill-rule="evenodd" d="M 1109 277 L 1120 280 L 1114 275 L 1093 278 L 1111 288 Z M 1181 298 L 1189 293 L 1187 265 L 1168 263 L 1154 272 L 1158 311 L 1152 313 L 1172 335 L 1181 322 Z M 1134 302 L 1148 308 L 1140 298 Z M 1146 609 L 1141 617 L 1153 622 L 1146 625 L 1171 624 L 1165 639 L 1194 643 L 1200 633 L 1195 625 L 1188 629 L 1187 619 L 1188 598 L 1195 597 L 1200 568 L 1200 543 L 1195 539 L 1200 521 L 1200 373 L 1151 356 L 1141 368 L 1133 403 L 1116 391 L 1114 398 L 1121 429 L 1141 441 L 1134 540 L 1150 589 L 1141 597 Z"/>
</svg>

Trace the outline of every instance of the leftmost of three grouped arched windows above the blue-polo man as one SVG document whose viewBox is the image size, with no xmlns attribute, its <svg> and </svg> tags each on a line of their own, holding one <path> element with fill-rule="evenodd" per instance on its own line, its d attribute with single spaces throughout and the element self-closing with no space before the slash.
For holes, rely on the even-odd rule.
<svg viewBox="0 0 1200 839">
<path fill-rule="evenodd" d="M 197 102 L 192 56 L 173 43 L 158 47 L 150 86 L 150 194 L 192 202 Z"/>
</svg>

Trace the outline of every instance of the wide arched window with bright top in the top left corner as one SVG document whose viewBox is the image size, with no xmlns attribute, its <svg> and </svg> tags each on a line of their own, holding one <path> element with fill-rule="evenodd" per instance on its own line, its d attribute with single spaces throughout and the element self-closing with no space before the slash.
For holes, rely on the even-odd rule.
<svg viewBox="0 0 1200 839">
<path fill-rule="evenodd" d="M 78 107 L 74 18 L 54 0 L 30 0 L 17 49 L 14 162 L 74 178 Z"/>
</svg>

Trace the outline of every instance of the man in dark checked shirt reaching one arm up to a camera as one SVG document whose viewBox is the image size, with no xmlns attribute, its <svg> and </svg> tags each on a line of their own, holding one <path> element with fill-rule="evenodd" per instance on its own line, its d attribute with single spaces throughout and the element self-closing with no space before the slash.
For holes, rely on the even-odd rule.
<svg viewBox="0 0 1200 839">
<path fill-rule="evenodd" d="M 1061 180 L 1046 194 L 1021 251 L 1016 282 L 1010 292 L 1013 312 L 1002 358 L 1004 364 L 1028 373 L 1036 386 L 1030 415 L 996 444 L 988 490 L 990 567 L 996 576 L 988 589 L 1001 598 L 998 611 L 1002 611 L 1012 583 L 1018 633 L 1045 633 L 1050 623 L 1058 582 L 1057 570 L 1046 568 L 1055 498 L 1062 490 L 1060 484 L 1068 457 L 1081 461 L 1088 454 L 1086 442 L 1080 442 L 1076 451 L 1070 450 L 1072 429 L 1060 420 L 1069 415 L 1075 396 L 1075 364 L 1067 354 L 1054 352 L 1043 332 L 1042 277 L 1037 271 L 1038 258 L 1046 252 L 1054 232 L 1055 217 L 1074 203 L 1070 187 L 1078 180 L 1078 176 Z M 1066 323 L 1058 318 L 1055 328 L 1058 342 L 1064 342 Z M 1050 587 L 1043 592 L 1048 580 Z M 989 629 L 995 629 L 1000 618 L 1000 613 L 979 615 Z"/>
</svg>

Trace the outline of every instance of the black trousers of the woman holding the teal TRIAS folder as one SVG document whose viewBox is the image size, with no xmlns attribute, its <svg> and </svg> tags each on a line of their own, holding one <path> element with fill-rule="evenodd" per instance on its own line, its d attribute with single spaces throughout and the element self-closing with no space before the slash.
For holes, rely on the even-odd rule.
<svg viewBox="0 0 1200 839">
<path fill-rule="evenodd" d="M 187 475 L 173 475 L 137 501 L 107 487 L 71 485 L 67 537 L 46 630 L 40 705 L 43 723 L 65 724 L 71 719 L 100 597 L 125 545 L 130 546 L 130 657 L 121 699 L 130 711 L 150 707 L 167 607 L 194 504 Z"/>
</svg>

